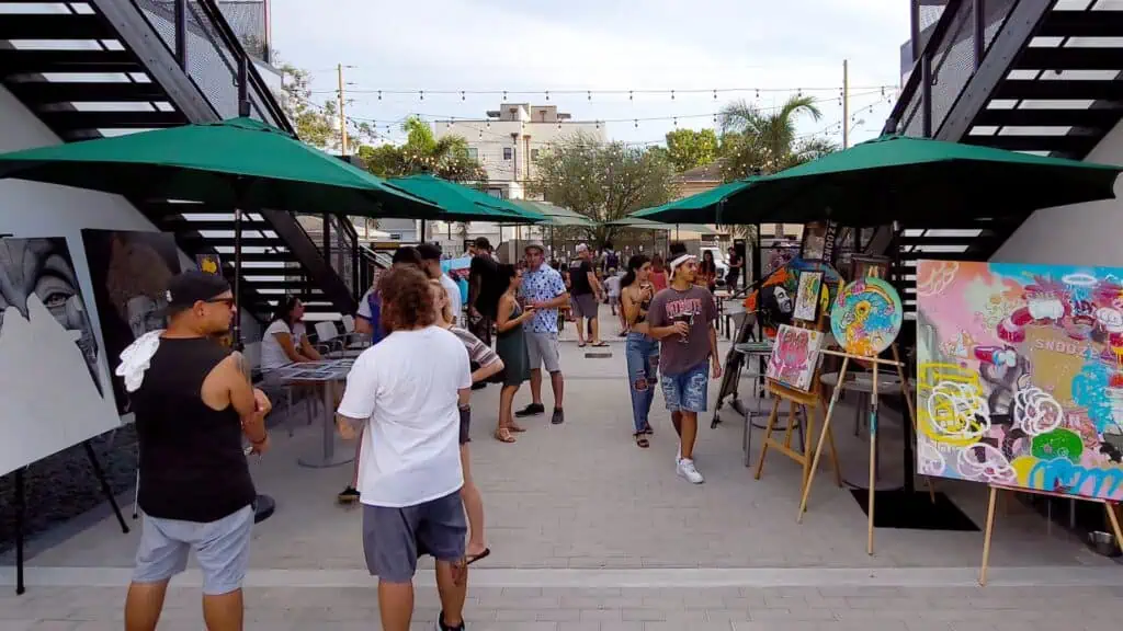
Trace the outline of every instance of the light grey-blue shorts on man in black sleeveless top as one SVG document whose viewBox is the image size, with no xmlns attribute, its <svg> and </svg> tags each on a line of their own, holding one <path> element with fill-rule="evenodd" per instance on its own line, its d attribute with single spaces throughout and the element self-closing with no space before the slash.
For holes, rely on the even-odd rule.
<svg viewBox="0 0 1123 631">
<path fill-rule="evenodd" d="M 162 583 L 188 567 L 194 550 L 203 573 L 203 594 L 218 596 L 241 588 L 249 567 L 254 507 L 246 506 L 209 523 L 144 515 L 134 583 Z"/>
</svg>

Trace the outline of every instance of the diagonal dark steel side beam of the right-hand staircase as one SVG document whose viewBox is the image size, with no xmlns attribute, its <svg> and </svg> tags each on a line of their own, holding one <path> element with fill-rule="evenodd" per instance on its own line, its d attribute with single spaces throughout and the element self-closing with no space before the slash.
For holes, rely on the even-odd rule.
<svg viewBox="0 0 1123 631">
<path fill-rule="evenodd" d="M 1052 8 L 1054 0 L 1021 0 L 1011 11 L 1003 28 L 990 43 L 978 70 L 971 75 L 964 91 L 956 99 L 951 111 L 944 117 L 933 136 L 952 143 L 962 139 L 990 100 L 995 89 L 1005 79 L 1010 61 L 1025 48 L 1038 24 Z"/>
</svg>

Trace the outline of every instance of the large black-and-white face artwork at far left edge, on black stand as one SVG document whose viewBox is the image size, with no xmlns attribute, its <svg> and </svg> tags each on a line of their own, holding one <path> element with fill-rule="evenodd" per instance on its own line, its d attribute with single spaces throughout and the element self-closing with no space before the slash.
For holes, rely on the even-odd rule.
<svg viewBox="0 0 1123 631">
<path fill-rule="evenodd" d="M 120 426 L 66 239 L 0 240 L 0 475 Z"/>
</svg>

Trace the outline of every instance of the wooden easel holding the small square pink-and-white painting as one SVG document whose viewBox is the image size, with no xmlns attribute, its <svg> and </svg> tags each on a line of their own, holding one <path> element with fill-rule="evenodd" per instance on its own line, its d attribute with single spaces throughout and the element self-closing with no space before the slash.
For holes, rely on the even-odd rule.
<svg viewBox="0 0 1123 631">
<path fill-rule="evenodd" d="M 823 323 L 823 317 L 820 316 L 816 326 L 813 327 L 806 322 L 796 321 L 793 323 L 794 327 L 810 330 L 822 330 L 821 326 Z M 820 350 L 820 353 L 822 353 Z M 773 394 L 773 409 L 772 413 L 768 414 L 767 430 L 765 431 L 764 445 L 760 447 L 760 457 L 757 459 L 757 470 L 754 475 L 755 479 L 760 479 L 761 474 L 765 470 L 765 457 L 768 455 L 768 449 L 775 449 L 784 456 L 787 456 L 801 467 L 803 467 L 803 477 L 801 478 L 800 490 L 802 493 L 806 494 L 807 484 L 813 477 L 814 466 L 818 466 L 819 458 L 818 455 L 822 451 L 823 440 L 830 443 L 831 449 L 831 461 L 834 465 L 834 481 L 842 486 L 842 472 L 839 468 L 838 450 L 834 448 L 834 435 L 824 429 L 823 433 L 819 437 L 819 445 L 815 448 L 815 460 L 812 464 L 811 452 L 812 442 L 815 437 L 815 417 L 819 410 L 819 403 L 822 401 L 821 387 L 819 383 L 819 366 L 815 366 L 814 375 L 812 376 L 811 391 L 803 392 L 788 387 L 784 384 L 776 382 L 775 379 L 767 379 L 768 392 Z M 773 431 L 776 429 L 776 419 L 779 417 L 779 404 L 780 401 L 788 402 L 788 414 L 787 414 L 787 429 L 784 432 L 783 441 L 773 438 Z M 792 448 L 792 437 L 795 432 L 796 423 L 796 405 L 803 408 L 804 415 L 807 419 L 806 428 L 803 430 L 803 450 L 796 451 Z"/>
</svg>

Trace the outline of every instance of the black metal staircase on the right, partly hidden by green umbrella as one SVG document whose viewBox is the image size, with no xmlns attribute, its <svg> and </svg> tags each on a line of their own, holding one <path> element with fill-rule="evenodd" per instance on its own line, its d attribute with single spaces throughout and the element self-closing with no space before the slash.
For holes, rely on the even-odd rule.
<svg viewBox="0 0 1123 631">
<path fill-rule="evenodd" d="M 1123 119 L 1123 7 L 1108 0 L 913 0 L 915 60 L 886 131 L 1075 159 Z M 987 260 L 1004 216 L 898 226 L 906 311 L 917 258 Z"/>
</svg>

